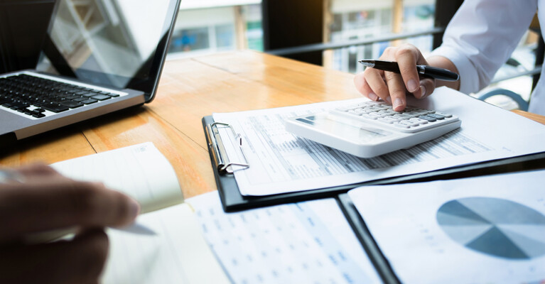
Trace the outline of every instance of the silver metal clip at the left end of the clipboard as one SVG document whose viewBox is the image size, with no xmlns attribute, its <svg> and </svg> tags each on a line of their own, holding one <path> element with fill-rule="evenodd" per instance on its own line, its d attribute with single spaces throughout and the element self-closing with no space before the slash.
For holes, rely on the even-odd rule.
<svg viewBox="0 0 545 284">
<path fill-rule="evenodd" d="M 244 158 L 244 161 L 237 162 L 229 159 L 229 155 L 227 155 L 227 151 L 225 151 L 225 143 L 223 143 L 222 141 L 219 130 L 220 128 L 224 127 L 229 127 L 231 129 L 233 136 L 237 140 L 237 144 L 239 146 L 240 153 L 242 153 L 242 158 Z M 208 136 L 208 141 L 210 141 L 210 143 L 208 143 L 208 146 L 211 149 L 212 158 L 219 173 L 234 173 L 232 167 L 233 165 L 237 166 L 236 170 L 245 170 L 250 167 L 246 155 L 244 154 L 244 149 L 242 148 L 242 136 L 234 131 L 233 126 L 231 126 L 230 124 L 215 122 L 206 126 L 206 133 Z"/>
</svg>

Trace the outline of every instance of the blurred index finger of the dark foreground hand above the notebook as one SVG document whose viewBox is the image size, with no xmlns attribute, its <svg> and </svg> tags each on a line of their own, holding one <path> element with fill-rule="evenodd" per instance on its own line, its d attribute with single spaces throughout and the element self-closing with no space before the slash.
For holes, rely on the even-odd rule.
<svg viewBox="0 0 545 284">
<path fill-rule="evenodd" d="M 96 182 L 55 177 L 1 185 L 0 240 L 72 226 L 124 226 L 139 204 Z"/>
</svg>

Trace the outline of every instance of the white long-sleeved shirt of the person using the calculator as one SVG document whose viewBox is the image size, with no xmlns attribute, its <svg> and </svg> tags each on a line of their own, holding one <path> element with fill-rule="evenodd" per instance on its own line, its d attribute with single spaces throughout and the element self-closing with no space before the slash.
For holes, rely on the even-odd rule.
<svg viewBox="0 0 545 284">
<path fill-rule="evenodd" d="M 460 92 L 478 92 L 509 59 L 536 11 L 539 21 L 545 23 L 545 0 L 466 0 L 448 24 L 443 44 L 432 55 L 444 56 L 458 68 Z M 542 33 L 544 27 L 541 25 Z M 541 74 L 529 111 L 545 115 L 543 68 Z"/>
</svg>

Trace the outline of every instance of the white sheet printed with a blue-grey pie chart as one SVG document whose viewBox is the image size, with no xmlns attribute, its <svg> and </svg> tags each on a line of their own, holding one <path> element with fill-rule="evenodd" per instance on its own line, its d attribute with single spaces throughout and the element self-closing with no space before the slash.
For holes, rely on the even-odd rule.
<svg viewBox="0 0 545 284">
<path fill-rule="evenodd" d="M 348 194 L 402 283 L 544 283 L 545 170 Z"/>
</svg>

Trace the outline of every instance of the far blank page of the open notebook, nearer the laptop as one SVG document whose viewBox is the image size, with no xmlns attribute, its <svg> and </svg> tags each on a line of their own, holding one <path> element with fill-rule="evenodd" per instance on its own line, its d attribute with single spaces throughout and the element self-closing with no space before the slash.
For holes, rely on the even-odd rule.
<svg viewBox="0 0 545 284">
<path fill-rule="evenodd" d="M 107 187 L 124 192 L 141 204 L 142 213 L 183 202 L 174 169 L 151 142 L 51 166 L 69 178 L 104 182 Z"/>
</svg>

